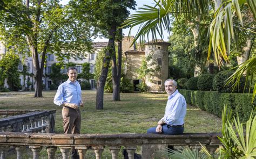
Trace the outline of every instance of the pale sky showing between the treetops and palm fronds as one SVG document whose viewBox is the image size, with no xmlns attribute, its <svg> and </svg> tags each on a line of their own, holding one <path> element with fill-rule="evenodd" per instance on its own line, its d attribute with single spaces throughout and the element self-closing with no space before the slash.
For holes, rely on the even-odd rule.
<svg viewBox="0 0 256 159">
<path fill-rule="evenodd" d="M 61 3 L 61 4 L 64 4 L 64 5 L 67 4 L 68 2 L 69 2 L 69 0 L 60 1 L 60 3 Z M 154 5 L 154 1 L 153 1 L 153 0 L 136 0 L 136 4 L 137 4 L 136 9 L 137 9 L 137 11 L 138 11 L 138 10 L 139 10 L 138 8 L 143 7 L 144 4 L 153 6 L 153 5 Z M 131 12 L 131 15 L 132 15 L 133 13 L 136 12 L 136 10 L 135 10 L 135 11 L 134 11 L 134 10 L 130 10 L 130 12 Z M 138 31 L 138 28 L 139 28 L 139 25 L 133 27 L 132 30 L 131 30 L 131 35 L 136 35 L 136 33 L 137 33 L 137 31 Z M 124 33 L 125 36 L 128 35 L 129 30 L 130 30 L 130 28 L 125 28 L 125 29 L 123 30 L 123 33 Z M 166 35 L 166 34 L 168 34 L 168 33 L 165 32 L 164 34 Z M 151 36 L 151 35 L 150 35 L 150 36 Z M 152 40 L 152 38 L 149 37 L 149 40 Z M 168 39 L 167 39 L 167 36 L 164 36 L 164 41 L 167 41 L 167 40 L 168 40 Z M 93 41 L 95 41 L 95 42 L 96 42 L 96 41 L 98 41 L 98 42 L 99 42 L 99 41 L 108 41 L 108 39 L 100 39 L 100 38 L 97 38 L 97 39 L 94 39 Z"/>
</svg>

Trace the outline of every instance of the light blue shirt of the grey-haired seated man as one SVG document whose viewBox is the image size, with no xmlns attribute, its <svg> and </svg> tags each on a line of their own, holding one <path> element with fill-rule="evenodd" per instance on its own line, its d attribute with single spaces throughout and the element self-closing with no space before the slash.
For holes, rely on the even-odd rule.
<svg viewBox="0 0 256 159">
<path fill-rule="evenodd" d="M 168 97 L 164 117 L 161 118 L 168 125 L 183 125 L 187 104 L 183 95 L 178 90 Z"/>
</svg>

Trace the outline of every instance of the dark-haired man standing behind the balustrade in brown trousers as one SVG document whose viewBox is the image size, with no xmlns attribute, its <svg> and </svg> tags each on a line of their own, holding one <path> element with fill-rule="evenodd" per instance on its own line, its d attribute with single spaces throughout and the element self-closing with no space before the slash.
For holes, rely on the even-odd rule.
<svg viewBox="0 0 256 159">
<path fill-rule="evenodd" d="M 67 72 L 69 79 L 60 84 L 53 103 L 62 108 L 64 134 L 80 134 L 81 113 L 79 107 L 83 107 L 82 91 L 77 79 L 77 68 L 69 67 Z M 72 158 L 79 158 L 77 151 L 72 148 Z"/>
</svg>

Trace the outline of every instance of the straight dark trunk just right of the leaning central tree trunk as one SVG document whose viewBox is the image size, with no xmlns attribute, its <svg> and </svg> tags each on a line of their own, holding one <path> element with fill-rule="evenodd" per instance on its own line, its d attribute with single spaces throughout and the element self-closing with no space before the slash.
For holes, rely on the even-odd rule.
<svg viewBox="0 0 256 159">
<path fill-rule="evenodd" d="M 112 58 L 112 83 L 113 83 L 113 100 L 120 100 L 120 78 L 122 69 L 122 29 L 119 30 L 117 41 L 117 62 L 116 55 Z"/>
</svg>

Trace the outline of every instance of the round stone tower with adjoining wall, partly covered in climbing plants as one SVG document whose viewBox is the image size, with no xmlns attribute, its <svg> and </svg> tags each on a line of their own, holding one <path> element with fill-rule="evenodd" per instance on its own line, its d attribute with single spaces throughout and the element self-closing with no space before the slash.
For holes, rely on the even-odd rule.
<svg viewBox="0 0 256 159">
<path fill-rule="evenodd" d="M 145 82 L 149 91 L 158 92 L 164 91 L 164 81 L 168 78 L 168 47 L 169 42 L 147 42 L 140 50 L 128 50 L 125 52 L 127 59 L 127 71 L 126 77 L 131 80 L 136 90 L 137 85 L 141 82 Z M 144 49 L 145 48 L 145 49 Z M 145 59 L 147 68 L 151 69 L 145 79 L 139 78 L 136 70 L 142 67 L 143 59 Z"/>
</svg>

